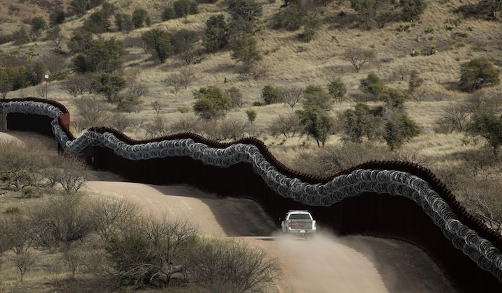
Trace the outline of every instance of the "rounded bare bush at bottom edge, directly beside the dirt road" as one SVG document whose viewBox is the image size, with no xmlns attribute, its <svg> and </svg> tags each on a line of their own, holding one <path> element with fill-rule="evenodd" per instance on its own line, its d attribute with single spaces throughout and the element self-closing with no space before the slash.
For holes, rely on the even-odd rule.
<svg viewBox="0 0 502 293">
<path fill-rule="evenodd" d="M 190 277 L 210 292 L 259 292 L 281 273 L 264 250 L 227 239 L 201 239 L 188 268 Z"/>
</svg>

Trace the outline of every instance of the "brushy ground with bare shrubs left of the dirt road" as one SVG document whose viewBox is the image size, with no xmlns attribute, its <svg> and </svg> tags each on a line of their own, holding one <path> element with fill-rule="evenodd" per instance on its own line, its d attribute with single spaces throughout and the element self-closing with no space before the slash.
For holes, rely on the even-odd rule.
<svg viewBox="0 0 502 293">
<path fill-rule="evenodd" d="M 4 291 L 250 292 L 280 274 L 277 260 L 241 241 L 83 190 L 89 173 L 78 158 L 29 142 L 1 142 L 0 155 L 15 158 L 0 162 Z"/>
</svg>

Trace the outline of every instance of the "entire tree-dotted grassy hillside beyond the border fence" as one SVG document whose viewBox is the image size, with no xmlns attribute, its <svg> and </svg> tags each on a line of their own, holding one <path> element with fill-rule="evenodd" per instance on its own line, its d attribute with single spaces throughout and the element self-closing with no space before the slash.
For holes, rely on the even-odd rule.
<svg viewBox="0 0 502 293">
<path fill-rule="evenodd" d="M 75 134 L 256 136 L 321 176 L 411 160 L 501 218 L 499 1 L 0 3 L 2 96 L 61 101 Z"/>
</svg>

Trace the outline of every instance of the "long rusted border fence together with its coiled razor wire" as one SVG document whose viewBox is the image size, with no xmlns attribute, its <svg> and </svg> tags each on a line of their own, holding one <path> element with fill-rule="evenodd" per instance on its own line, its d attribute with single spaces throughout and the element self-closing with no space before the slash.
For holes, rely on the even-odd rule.
<svg viewBox="0 0 502 293">
<path fill-rule="evenodd" d="M 96 170 L 139 183 L 189 184 L 224 197 L 250 198 L 271 218 L 309 209 L 319 225 L 336 234 L 391 237 L 420 246 L 461 292 L 502 292 L 501 234 L 473 217 L 420 165 L 371 161 L 318 177 L 289 169 L 255 138 L 220 143 L 178 133 L 132 140 L 98 127 L 75 137 L 66 107 L 40 98 L 0 100 L 0 114 L 7 130 L 53 137 L 59 151 L 82 156 Z"/>
</svg>

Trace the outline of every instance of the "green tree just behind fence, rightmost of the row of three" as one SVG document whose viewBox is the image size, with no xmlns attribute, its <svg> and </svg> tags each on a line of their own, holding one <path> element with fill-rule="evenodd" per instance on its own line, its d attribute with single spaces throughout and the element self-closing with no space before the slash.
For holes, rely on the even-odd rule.
<svg viewBox="0 0 502 293">
<path fill-rule="evenodd" d="M 396 112 L 394 117 L 390 117 L 385 123 L 383 140 L 387 142 L 390 151 L 401 147 L 404 142 L 420 134 L 415 121 L 410 119 L 404 112 Z"/>
</svg>

